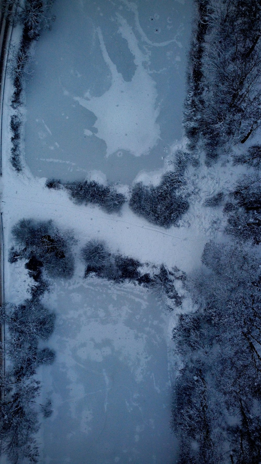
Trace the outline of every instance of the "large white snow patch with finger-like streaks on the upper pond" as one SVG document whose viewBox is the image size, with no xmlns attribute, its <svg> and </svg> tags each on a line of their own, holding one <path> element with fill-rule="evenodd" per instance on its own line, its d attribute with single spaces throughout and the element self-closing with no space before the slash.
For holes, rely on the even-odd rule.
<svg viewBox="0 0 261 464">
<path fill-rule="evenodd" d="M 156 122 L 159 115 L 159 107 L 156 107 L 156 83 L 144 67 L 148 57 L 140 51 L 131 26 L 119 14 L 117 18 L 121 24 L 119 32 L 127 40 L 137 66 L 131 82 L 125 82 L 112 63 L 98 27 L 103 58 L 111 71 L 111 87 L 101 97 L 92 97 L 88 90 L 85 98 L 74 97 L 74 100 L 97 117 L 94 124 L 98 129 L 96 135 L 106 142 L 107 156 L 118 150 L 130 151 L 131 154 L 140 156 L 148 153 L 160 137 L 159 124 Z M 86 135 L 91 135 L 89 132 L 91 131 Z"/>
</svg>

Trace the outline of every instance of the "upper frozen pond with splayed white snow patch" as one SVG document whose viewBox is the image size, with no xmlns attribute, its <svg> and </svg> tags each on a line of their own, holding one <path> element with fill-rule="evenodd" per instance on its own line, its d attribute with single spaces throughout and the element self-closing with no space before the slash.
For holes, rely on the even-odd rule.
<svg viewBox="0 0 261 464">
<path fill-rule="evenodd" d="M 55 0 L 26 90 L 33 174 L 130 183 L 182 136 L 192 0 Z"/>
</svg>

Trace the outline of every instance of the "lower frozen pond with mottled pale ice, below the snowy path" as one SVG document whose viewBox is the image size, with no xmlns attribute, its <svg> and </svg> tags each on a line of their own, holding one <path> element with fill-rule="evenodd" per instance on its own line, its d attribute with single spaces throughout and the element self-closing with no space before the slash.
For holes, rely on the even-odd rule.
<svg viewBox="0 0 261 464">
<path fill-rule="evenodd" d="M 42 464 L 171 464 L 170 313 L 140 287 L 101 280 L 56 284 L 49 345 L 56 361 L 42 367 Z"/>
</svg>

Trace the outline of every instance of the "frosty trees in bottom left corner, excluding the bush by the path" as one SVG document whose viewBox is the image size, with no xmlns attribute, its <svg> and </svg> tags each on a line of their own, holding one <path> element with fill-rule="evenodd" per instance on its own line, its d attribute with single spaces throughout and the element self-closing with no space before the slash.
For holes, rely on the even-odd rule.
<svg viewBox="0 0 261 464">
<path fill-rule="evenodd" d="M 36 408 L 40 382 L 35 380 L 36 369 L 50 364 L 54 352 L 39 349 L 39 340 L 47 340 L 54 329 L 55 315 L 37 298 L 18 306 L 5 305 L 0 309 L 0 322 L 8 331 L 5 337 L 5 356 L 8 364 L 0 387 L 5 396 L 0 400 L 1 451 L 10 463 L 37 463 L 38 445 L 35 434 L 39 430 Z"/>
</svg>

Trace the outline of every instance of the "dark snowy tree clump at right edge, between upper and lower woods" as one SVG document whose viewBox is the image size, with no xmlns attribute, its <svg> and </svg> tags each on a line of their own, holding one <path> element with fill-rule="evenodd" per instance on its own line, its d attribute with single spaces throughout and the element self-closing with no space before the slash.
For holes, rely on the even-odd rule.
<svg viewBox="0 0 261 464">
<path fill-rule="evenodd" d="M 254 244 L 261 243 L 261 185 L 255 176 L 244 176 L 231 201 L 224 207 L 228 225 L 226 232 Z"/>
</svg>

